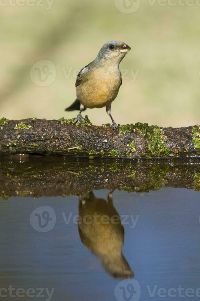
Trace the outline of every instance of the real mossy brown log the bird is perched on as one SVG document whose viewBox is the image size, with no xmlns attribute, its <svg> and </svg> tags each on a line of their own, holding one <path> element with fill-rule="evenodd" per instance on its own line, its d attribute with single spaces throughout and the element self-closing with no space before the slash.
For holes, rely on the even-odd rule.
<svg viewBox="0 0 200 301">
<path fill-rule="evenodd" d="M 73 119 L 0 119 L 0 155 L 53 154 L 119 158 L 200 157 L 200 126 L 162 128 L 147 123 L 77 126 Z"/>
</svg>

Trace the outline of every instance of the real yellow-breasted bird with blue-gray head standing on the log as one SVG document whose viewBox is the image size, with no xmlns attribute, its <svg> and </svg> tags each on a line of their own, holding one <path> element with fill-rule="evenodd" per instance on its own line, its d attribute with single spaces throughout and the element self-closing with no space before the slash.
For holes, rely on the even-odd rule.
<svg viewBox="0 0 200 301">
<path fill-rule="evenodd" d="M 124 42 L 109 41 L 100 49 L 96 59 L 82 68 L 76 78 L 76 100 L 65 111 L 80 110 L 74 124 L 85 123 L 81 112 L 86 108 L 106 107 L 107 114 L 112 120 L 112 129 L 118 128 L 111 115 L 111 104 L 116 99 L 122 75 L 119 69 L 131 47 Z"/>
</svg>

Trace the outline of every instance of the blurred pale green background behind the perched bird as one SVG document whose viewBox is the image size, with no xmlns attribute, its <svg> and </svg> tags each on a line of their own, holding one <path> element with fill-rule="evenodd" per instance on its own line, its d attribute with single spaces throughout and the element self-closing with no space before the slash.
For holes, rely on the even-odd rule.
<svg viewBox="0 0 200 301">
<path fill-rule="evenodd" d="M 120 64 L 127 74 L 112 104 L 116 122 L 200 123 L 200 3 L 143 0 L 131 13 L 136 2 L 1 0 L 1 116 L 75 117 L 64 109 L 76 99 L 78 71 L 120 40 L 131 51 Z M 105 108 L 85 112 L 93 124 L 110 122 Z"/>
</svg>

